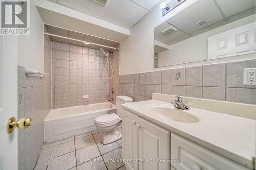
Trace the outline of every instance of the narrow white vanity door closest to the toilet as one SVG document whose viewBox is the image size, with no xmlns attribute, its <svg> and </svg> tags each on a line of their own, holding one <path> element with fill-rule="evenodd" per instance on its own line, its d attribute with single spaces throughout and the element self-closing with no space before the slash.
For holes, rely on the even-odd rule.
<svg viewBox="0 0 256 170">
<path fill-rule="evenodd" d="M 123 147 L 122 155 L 123 159 L 135 160 L 138 159 L 138 128 L 136 124 L 138 123 L 138 117 L 129 111 L 123 110 L 122 117 L 122 133 L 123 133 Z M 137 170 L 138 163 L 133 163 L 132 161 L 125 163 L 126 168 L 129 170 Z"/>
</svg>

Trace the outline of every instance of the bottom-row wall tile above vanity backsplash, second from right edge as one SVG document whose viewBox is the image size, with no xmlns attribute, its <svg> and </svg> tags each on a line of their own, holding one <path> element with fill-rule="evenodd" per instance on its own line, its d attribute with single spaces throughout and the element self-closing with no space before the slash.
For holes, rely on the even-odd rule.
<svg viewBox="0 0 256 170">
<path fill-rule="evenodd" d="M 225 101 L 225 87 L 203 87 L 203 99 Z"/>
</svg>

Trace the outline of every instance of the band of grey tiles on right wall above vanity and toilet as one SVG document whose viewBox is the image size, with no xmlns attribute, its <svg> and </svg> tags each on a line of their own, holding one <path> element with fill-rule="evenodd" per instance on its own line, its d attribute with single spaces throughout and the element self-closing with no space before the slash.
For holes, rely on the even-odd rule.
<svg viewBox="0 0 256 170">
<path fill-rule="evenodd" d="M 116 95 L 130 96 L 135 102 L 151 100 L 156 92 L 256 104 L 256 86 L 243 85 L 244 68 L 254 67 L 256 60 L 144 72 L 116 77 L 119 85 L 114 85 L 119 87 Z"/>
</svg>

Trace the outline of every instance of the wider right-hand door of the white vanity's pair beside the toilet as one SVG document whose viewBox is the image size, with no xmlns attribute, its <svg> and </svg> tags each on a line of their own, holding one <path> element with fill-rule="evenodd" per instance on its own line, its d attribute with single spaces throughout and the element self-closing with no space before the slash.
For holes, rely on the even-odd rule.
<svg viewBox="0 0 256 170">
<path fill-rule="evenodd" d="M 139 159 L 145 161 L 170 159 L 170 132 L 143 118 L 138 118 Z M 140 162 L 140 170 L 167 170 L 170 163 Z"/>
</svg>

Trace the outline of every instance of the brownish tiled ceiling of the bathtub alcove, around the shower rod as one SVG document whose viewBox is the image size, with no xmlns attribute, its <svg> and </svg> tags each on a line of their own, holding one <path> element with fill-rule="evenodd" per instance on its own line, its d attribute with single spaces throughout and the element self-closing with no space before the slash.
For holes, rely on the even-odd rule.
<svg viewBox="0 0 256 170">
<path fill-rule="evenodd" d="M 78 39 L 78 40 L 87 41 L 87 42 L 93 42 L 93 43 L 106 45 L 106 46 L 111 46 L 111 47 L 118 47 L 119 46 L 119 42 L 116 42 L 116 41 L 106 40 L 106 39 L 103 39 L 103 38 L 99 38 L 99 37 L 95 37 L 95 36 L 91 36 L 91 35 L 87 35 L 87 34 L 82 34 L 82 33 L 78 33 L 78 32 L 71 31 L 71 30 L 66 30 L 66 29 L 54 27 L 54 26 L 51 26 L 51 25 L 45 25 L 45 27 L 46 27 L 46 32 L 50 33 L 50 34 L 59 35 L 59 36 L 63 36 L 63 37 L 68 37 L 68 38 L 73 38 L 73 39 Z M 73 44 L 73 45 L 78 45 L 78 46 L 84 46 L 84 47 L 89 47 L 89 48 L 94 48 L 94 49 L 102 48 L 105 51 L 113 52 L 113 49 L 108 48 L 108 47 L 102 47 L 102 46 L 98 46 L 98 45 L 94 45 L 94 44 L 89 44 L 88 45 L 88 44 L 84 44 L 83 42 L 80 42 L 80 41 L 74 41 L 74 40 L 69 40 L 69 39 L 55 37 L 55 36 L 50 36 L 50 38 L 51 38 L 52 41 L 56 41 L 56 42 Z"/>
</svg>

